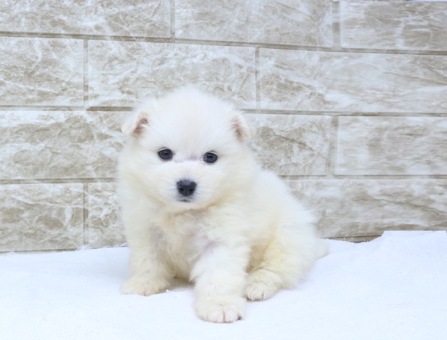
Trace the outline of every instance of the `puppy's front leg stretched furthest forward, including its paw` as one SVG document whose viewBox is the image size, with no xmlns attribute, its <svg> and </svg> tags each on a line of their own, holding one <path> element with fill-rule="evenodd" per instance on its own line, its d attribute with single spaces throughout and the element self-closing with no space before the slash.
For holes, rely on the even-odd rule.
<svg viewBox="0 0 447 340">
<path fill-rule="evenodd" d="M 199 317 L 220 323 L 243 317 L 247 263 L 247 247 L 215 246 L 201 255 L 191 274 L 195 281 L 195 310 Z"/>
</svg>

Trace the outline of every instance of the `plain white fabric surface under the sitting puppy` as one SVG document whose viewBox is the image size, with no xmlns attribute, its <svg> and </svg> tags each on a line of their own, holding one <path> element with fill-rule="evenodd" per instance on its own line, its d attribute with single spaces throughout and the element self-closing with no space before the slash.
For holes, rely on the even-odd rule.
<svg viewBox="0 0 447 340">
<path fill-rule="evenodd" d="M 0 339 L 447 339 L 446 232 L 328 241 L 293 290 L 206 323 L 193 292 L 120 295 L 127 248 L 0 256 Z"/>
</svg>

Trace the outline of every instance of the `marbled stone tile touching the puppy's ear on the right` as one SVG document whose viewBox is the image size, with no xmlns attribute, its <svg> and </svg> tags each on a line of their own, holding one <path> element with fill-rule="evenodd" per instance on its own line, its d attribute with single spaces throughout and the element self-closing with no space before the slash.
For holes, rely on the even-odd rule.
<svg viewBox="0 0 447 340">
<path fill-rule="evenodd" d="M 251 146 L 265 169 L 283 176 L 325 175 L 329 159 L 329 116 L 246 114 L 257 129 Z"/>
</svg>

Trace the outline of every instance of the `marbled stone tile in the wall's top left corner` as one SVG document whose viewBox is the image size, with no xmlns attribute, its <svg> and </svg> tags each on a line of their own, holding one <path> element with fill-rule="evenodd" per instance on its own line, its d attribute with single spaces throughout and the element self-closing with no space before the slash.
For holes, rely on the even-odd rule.
<svg viewBox="0 0 447 340">
<path fill-rule="evenodd" d="M 171 36 L 169 0 L 8 0 L 0 31 Z"/>
</svg>

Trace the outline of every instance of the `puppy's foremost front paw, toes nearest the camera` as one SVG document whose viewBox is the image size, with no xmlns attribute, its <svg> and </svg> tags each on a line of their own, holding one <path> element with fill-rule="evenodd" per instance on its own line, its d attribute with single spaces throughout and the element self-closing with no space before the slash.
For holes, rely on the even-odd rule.
<svg viewBox="0 0 447 340">
<path fill-rule="evenodd" d="M 210 322 L 234 322 L 243 318 L 246 299 L 243 297 L 229 297 L 219 301 L 202 301 L 195 304 L 197 315 Z"/>
</svg>

